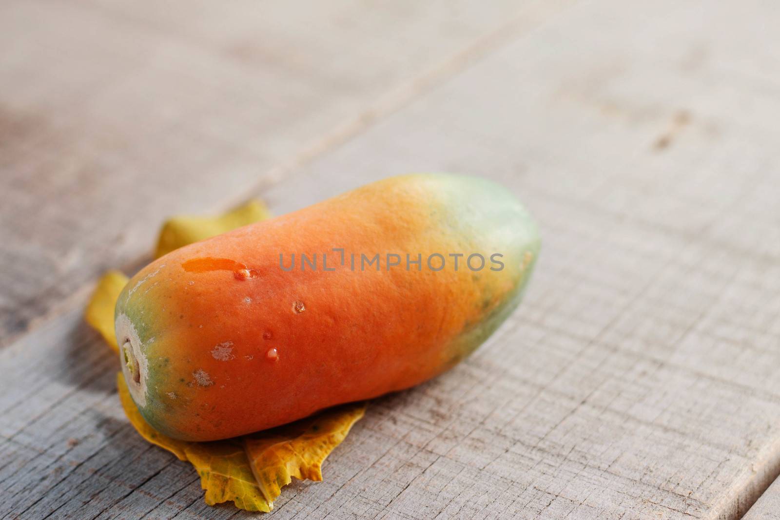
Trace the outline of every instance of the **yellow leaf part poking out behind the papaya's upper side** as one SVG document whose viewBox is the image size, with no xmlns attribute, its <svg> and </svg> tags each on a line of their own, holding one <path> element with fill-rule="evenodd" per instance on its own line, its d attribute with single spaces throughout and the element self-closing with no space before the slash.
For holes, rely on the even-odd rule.
<svg viewBox="0 0 780 520">
<path fill-rule="evenodd" d="M 250 200 L 243 206 L 220 215 L 219 217 L 193 217 L 182 215 L 173 217 L 162 225 L 154 258 L 159 258 L 174 249 L 211 236 L 229 232 L 243 225 L 254 224 L 271 217 L 271 212 L 259 200 Z"/>
</svg>

